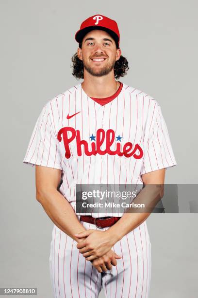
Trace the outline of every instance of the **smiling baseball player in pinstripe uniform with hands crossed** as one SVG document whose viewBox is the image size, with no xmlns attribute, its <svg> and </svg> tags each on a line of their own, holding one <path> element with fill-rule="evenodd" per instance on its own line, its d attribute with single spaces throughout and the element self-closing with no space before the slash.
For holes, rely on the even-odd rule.
<svg viewBox="0 0 198 298">
<path fill-rule="evenodd" d="M 148 298 L 151 243 L 145 213 L 76 210 L 76 185 L 164 184 L 177 165 L 161 107 L 118 81 L 115 20 L 94 15 L 75 35 L 79 83 L 47 101 L 23 160 L 35 166 L 36 199 L 54 223 L 49 269 L 55 298 Z"/>
</svg>

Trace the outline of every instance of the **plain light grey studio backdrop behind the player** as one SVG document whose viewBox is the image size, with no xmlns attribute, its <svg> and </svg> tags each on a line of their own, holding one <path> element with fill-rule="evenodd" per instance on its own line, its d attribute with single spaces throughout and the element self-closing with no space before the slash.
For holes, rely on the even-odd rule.
<svg viewBox="0 0 198 298">
<path fill-rule="evenodd" d="M 126 84 L 158 100 L 178 166 L 165 183 L 198 182 L 196 1 L 0 1 L 1 200 L 0 287 L 37 287 L 52 298 L 52 222 L 35 200 L 34 169 L 23 165 L 43 105 L 78 83 L 70 57 L 74 34 L 94 14 L 115 19 Z M 198 292 L 196 214 L 152 214 L 151 298 L 195 298 Z M 100 298 L 104 293 L 100 294 Z"/>
</svg>

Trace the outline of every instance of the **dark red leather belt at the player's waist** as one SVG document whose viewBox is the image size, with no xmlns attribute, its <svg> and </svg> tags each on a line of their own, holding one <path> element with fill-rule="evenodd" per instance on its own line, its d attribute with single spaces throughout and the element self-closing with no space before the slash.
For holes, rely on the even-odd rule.
<svg viewBox="0 0 198 298">
<path fill-rule="evenodd" d="M 91 215 L 81 215 L 80 221 L 95 224 L 98 228 L 111 226 L 118 222 L 121 217 L 101 217 L 95 218 Z"/>
</svg>

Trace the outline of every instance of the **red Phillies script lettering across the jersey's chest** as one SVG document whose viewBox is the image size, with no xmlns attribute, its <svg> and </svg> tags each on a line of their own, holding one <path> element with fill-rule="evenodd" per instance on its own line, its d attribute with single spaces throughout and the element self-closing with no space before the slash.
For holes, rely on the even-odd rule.
<svg viewBox="0 0 198 298">
<path fill-rule="evenodd" d="M 71 133 L 71 136 L 69 137 L 69 133 Z M 112 144 L 115 141 L 115 131 L 114 130 L 107 130 L 106 134 L 103 129 L 98 129 L 96 132 L 96 141 L 91 143 L 91 151 L 89 151 L 89 144 L 85 140 L 81 140 L 81 135 L 80 135 L 80 130 L 75 130 L 73 127 L 63 127 L 62 129 L 59 130 L 57 134 L 57 138 L 59 142 L 62 140 L 63 135 L 63 141 L 64 141 L 64 146 L 66 149 L 66 158 L 70 158 L 71 152 L 69 148 L 69 144 L 71 142 L 76 141 L 76 147 L 77 147 L 77 154 L 78 156 L 82 156 L 82 149 L 81 146 L 84 146 L 84 153 L 87 156 L 91 155 L 104 155 L 104 154 L 110 154 L 110 155 L 118 155 L 118 156 L 126 156 L 126 157 L 131 157 L 133 155 L 134 158 L 140 159 L 143 156 L 143 150 L 142 148 L 138 145 L 135 144 L 134 148 L 131 142 L 127 142 L 123 146 L 123 151 L 121 151 L 121 144 L 116 143 L 115 150 L 110 149 Z M 105 150 L 101 150 L 100 147 L 102 146 L 103 143 L 106 143 L 106 148 Z M 139 155 L 137 155 L 135 152 L 139 150 Z"/>
</svg>

